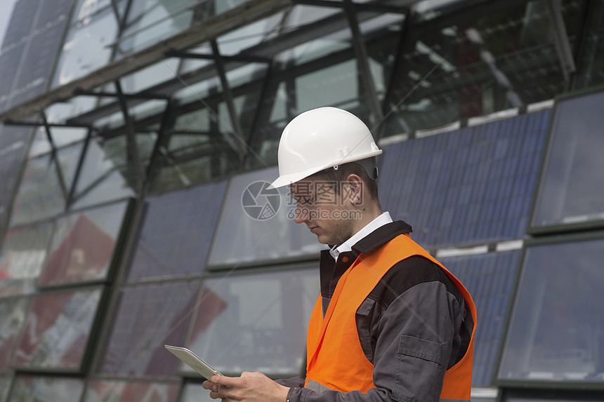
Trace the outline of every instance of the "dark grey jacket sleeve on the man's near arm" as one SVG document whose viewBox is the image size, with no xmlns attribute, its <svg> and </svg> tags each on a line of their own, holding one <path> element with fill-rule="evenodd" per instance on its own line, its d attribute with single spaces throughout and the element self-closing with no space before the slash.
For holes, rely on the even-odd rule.
<svg viewBox="0 0 604 402">
<path fill-rule="evenodd" d="M 408 265 L 406 260 L 395 265 L 397 271 L 382 283 L 383 294 L 372 292 L 357 310 L 359 339 L 374 364 L 376 387 L 365 394 L 299 388 L 292 402 L 439 400 L 452 350 L 459 347 L 463 300 L 449 292 L 450 286 L 447 290 L 442 270 L 432 262 L 425 260 L 411 273 Z"/>
</svg>

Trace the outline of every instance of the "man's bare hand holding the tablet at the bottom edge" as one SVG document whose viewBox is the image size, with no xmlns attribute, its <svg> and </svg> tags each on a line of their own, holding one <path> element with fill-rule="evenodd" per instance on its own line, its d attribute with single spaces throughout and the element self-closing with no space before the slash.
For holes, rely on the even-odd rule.
<svg viewBox="0 0 604 402">
<path fill-rule="evenodd" d="M 289 391 L 257 371 L 244 372 L 241 377 L 212 375 L 203 387 L 211 391 L 210 398 L 222 399 L 222 402 L 285 402 Z"/>
</svg>

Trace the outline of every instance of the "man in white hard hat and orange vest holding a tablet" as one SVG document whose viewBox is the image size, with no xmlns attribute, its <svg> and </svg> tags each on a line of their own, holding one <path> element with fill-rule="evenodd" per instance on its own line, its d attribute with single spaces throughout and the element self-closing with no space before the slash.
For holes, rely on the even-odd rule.
<svg viewBox="0 0 604 402">
<path fill-rule="evenodd" d="M 279 145 L 297 223 L 330 245 L 307 335 L 306 379 L 213 376 L 211 398 L 256 402 L 469 401 L 476 311 L 467 290 L 378 199 L 381 150 L 360 119 L 322 107 Z"/>
</svg>

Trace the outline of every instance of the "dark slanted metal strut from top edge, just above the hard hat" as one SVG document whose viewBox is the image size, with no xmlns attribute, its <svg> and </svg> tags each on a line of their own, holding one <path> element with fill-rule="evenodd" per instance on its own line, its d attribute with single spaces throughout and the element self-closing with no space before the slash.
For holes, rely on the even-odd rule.
<svg viewBox="0 0 604 402">
<path fill-rule="evenodd" d="M 355 55 L 357 56 L 362 83 L 365 88 L 365 96 L 367 98 L 367 103 L 369 104 L 369 110 L 372 112 L 373 124 L 377 124 L 381 121 L 383 114 L 377 98 L 373 75 L 371 69 L 369 69 L 369 55 L 367 55 L 367 48 L 365 48 L 365 40 L 359 29 L 359 21 L 357 20 L 357 13 L 352 0 L 343 0 L 343 3 L 344 10 L 348 16 L 350 31 L 353 33 L 353 45 L 355 48 Z"/>
</svg>

